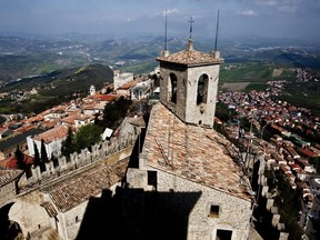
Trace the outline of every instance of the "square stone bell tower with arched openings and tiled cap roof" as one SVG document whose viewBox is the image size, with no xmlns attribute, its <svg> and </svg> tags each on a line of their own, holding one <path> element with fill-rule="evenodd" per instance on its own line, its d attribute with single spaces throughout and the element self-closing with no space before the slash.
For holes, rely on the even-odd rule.
<svg viewBox="0 0 320 240">
<path fill-rule="evenodd" d="M 163 51 L 160 62 L 160 101 L 189 124 L 213 128 L 220 64 L 218 51 L 193 49 L 170 54 Z"/>
</svg>

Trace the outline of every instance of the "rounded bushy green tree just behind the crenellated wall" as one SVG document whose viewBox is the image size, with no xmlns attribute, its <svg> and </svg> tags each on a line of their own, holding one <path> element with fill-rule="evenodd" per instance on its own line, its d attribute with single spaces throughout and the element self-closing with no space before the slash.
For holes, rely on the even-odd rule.
<svg viewBox="0 0 320 240">
<path fill-rule="evenodd" d="M 101 134 L 102 129 L 96 124 L 82 126 L 74 136 L 74 149 L 77 152 L 86 148 L 91 150 L 91 146 L 102 141 Z"/>
</svg>

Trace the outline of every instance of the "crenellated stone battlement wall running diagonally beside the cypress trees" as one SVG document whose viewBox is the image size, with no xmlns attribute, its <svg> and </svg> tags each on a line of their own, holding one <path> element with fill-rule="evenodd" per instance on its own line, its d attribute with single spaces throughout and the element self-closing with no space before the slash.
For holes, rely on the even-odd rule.
<svg viewBox="0 0 320 240">
<path fill-rule="evenodd" d="M 91 151 L 82 149 L 80 153 L 73 152 L 70 154 L 70 160 L 66 157 L 59 157 L 56 161 L 49 161 L 46 163 L 46 171 L 40 170 L 40 167 L 31 168 L 31 177 L 27 177 L 27 173 L 20 178 L 18 182 L 18 192 L 20 194 L 28 193 L 34 188 L 41 188 L 59 179 L 63 179 L 77 172 L 81 172 L 86 169 L 94 167 L 107 158 L 121 151 L 126 151 L 128 148 L 132 148 L 138 136 L 139 129 L 132 127 L 126 136 L 119 138 L 112 138 L 110 140 L 102 141 L 91 147 Z M 112 163 L 112 162 L 111 162 Z"/>
</svg>

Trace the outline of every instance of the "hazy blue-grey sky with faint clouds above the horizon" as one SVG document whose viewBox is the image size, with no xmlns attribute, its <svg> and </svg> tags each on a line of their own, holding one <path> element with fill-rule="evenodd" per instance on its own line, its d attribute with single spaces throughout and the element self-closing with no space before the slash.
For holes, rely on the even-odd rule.
<svg viewBox="0 0 320 240">
<path fill-rule="evenodd" d="M 1 33 L 320 39 L 320 0 L 1 0 Z"/>
</svg>

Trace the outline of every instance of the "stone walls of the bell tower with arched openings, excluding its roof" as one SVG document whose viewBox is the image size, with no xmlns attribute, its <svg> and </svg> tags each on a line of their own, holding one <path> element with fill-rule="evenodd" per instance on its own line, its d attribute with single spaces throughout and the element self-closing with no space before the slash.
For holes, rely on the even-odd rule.
<svg viewBox="0 0 320 240">
<path fill-rule="evenodd" d="M 182 121 L 213 127 L 220 64 L 183 68 L 161 62 L 160 100 Z M 170 73 L 177 77 L 177 103 L 170 101 Z M 209 77 L 207 103 L 197 104 L 198 81 Z"/>
</svg>

